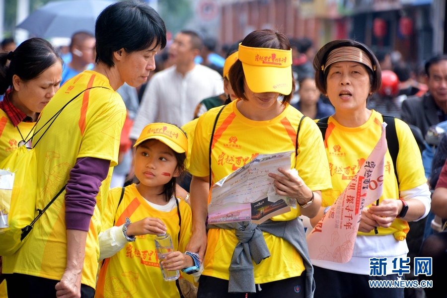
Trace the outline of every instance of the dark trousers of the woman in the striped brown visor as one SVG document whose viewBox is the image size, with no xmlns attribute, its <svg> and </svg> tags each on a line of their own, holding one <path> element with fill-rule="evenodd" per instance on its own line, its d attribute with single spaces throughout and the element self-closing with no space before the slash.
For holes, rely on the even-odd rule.
<svg viewBox="0 0 447 298">
<path fill-rule="evenodd" d="M 397 280 L 397 274 L 369 276 L 313 266 L 314 298 L 404 298 L 401 288 L 370 288 L 370 280 Z M 402 276 L 402 280 L 404 277 Z"/>
</svg>

